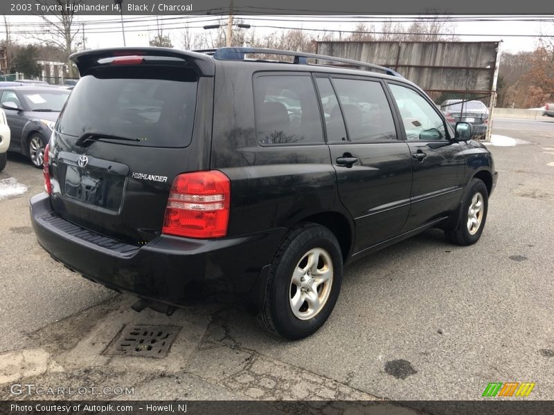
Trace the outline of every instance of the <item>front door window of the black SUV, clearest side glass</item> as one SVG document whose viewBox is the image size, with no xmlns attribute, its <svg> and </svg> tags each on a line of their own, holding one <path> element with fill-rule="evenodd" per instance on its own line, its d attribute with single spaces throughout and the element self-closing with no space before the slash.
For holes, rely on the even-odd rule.
<svg viewBox="0 0 554 415">
<path fill-rule="evenodd" d="M 407 140 L 434 141 L 447 138 L 443 118 L 425 98 L 405 86 L 389 86 L 400 111 Z"/>
</svg>

